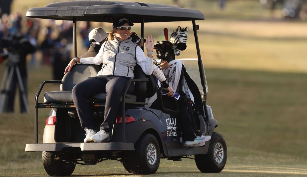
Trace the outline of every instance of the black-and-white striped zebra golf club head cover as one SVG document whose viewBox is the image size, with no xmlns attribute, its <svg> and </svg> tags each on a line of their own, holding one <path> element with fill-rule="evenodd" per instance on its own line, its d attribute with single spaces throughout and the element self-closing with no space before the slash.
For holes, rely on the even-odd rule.
<svg viewBox="0 0 307 177">
<path fill-rule="evenodd" d="M 177 30 L 175 30 L 170 37 L 170 42 L 173 43 L 173 50 L 175 55 L 180 55 L 181 50 L 185 50 L 187 48 L 187 40 L 188 40 L 188 30 L 178 26 Z"/>
</svg>

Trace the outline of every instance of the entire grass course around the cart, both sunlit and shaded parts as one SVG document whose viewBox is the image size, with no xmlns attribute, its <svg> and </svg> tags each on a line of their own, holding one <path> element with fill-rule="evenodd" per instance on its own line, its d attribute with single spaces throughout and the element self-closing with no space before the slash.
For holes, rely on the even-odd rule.
<svg viewBox="0 0 307 177">
<path fill-rule="evenodd" d="M 196 6 L 191 2 L 197 2 Z M 202 174 L 194 160 L 163 159 L 154 176 L 306 176 L 307 23 L 282 21 L 278 15 L 262 21 L 268 15 L 258 1 L 227 1 L 223 12 L 216 2 L 182 3 L 206 17 L 196 21 L 197 32 L 209 87 L 207 102 L 219 123 L 215 131 L 227 143 L 227 164 L 219 174 Z M 13 10 L 48 3 L 15 0 Z M 145 33 L 163 40 L 162 29 L 169 28 L 170 34 L 178 25 L 190 27 L 187 49 L 178 58 L 196 58 L 191 22 L 146 24 Z M 134 27 L 140 34 L 140 25 Z M 0 67 L 2 79 L 5 65 Z M 190 68 L 190 75 L 198 74 L 198 68 Z M 29 114 L 18 113 L 16 99 L 16 113 L 0 115 L 0 176 L 48 176 L 41 152 L 24 152 L 25 144 L 34 142 L 34 96 L 44 80 L 52 80 L 51 68 L 29 71 Z M 48 86 L 42 93 L 59 89 L 56 84 Z M 49 109 L 39 110 L 39 143 L 48 114 Z M 127 174 L 120 162 L 109 160 L 95 166 L 77 165 L 72 176 L 135 175 Z"/>
</svg>

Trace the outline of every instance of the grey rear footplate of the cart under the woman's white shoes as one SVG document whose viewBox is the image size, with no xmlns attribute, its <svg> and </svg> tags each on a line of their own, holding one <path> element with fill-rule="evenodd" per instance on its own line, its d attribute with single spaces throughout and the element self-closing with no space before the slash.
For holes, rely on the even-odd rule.
<svg viewBox="0 0 307 177">
<path fill-rule="evenodd" d="M 78 148 L 79 151 L 134 151 L 134 144 L 122 142 L 26 144 L 25 152 L 62 151 L 63 148 Z"/>
</svg>

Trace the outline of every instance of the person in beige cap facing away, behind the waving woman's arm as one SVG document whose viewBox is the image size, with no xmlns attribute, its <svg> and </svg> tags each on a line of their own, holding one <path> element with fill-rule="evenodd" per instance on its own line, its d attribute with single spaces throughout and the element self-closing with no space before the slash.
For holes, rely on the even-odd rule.
<svg viewBox="0 0 307 177">
<path fill-rule="evenodd" d="M 107 37 L 108 34 L 102 28 L 92 29 L 91 32 L 88 34 L 88 40 L 90 41 L 91 46 L 87 52 L 85 52 L 78 58 L 95 57 Z"/>
</svg>

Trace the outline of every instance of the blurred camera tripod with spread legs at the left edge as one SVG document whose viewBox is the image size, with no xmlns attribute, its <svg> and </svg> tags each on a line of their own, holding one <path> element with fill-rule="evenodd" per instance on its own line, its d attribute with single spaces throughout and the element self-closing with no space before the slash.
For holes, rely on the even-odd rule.
<svg viewBox="0 0 307 177">
<path fill-rule="evenodd" d="M 9 93 L 13 87 L 14 75 L 17 76 L 18 86 L 20 89 L 20 101 L 25 106 L 25 111 L 29 113 L 29 105 L 27 96 L 25 93 L 25 87 L 23 85 L 19 67 L 16 62 L 9 61 L 5 67 L 2 82 L 1 82 L 1 100 L 0 100 L 0 113 L 8 112 Z M 13 98 L 14 99 L 14 98 Z M 22 108 L 21 108 L 22 109 Z"/>
</svg>

